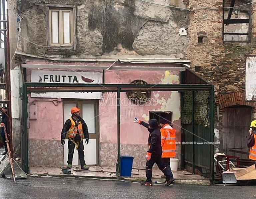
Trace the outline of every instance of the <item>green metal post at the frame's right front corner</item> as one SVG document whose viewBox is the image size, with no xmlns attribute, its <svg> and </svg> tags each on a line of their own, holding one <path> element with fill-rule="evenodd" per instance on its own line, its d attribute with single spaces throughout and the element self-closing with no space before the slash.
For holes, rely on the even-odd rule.
<svg viewBox="0 0 256 199">
<path fill-rule="evenodd" d="M 214 86 L 210 91 L 210 142 L 214 142 Z M 210 180 L 214 181 L 214 145 L 210 145 Z"/>
</svg>

